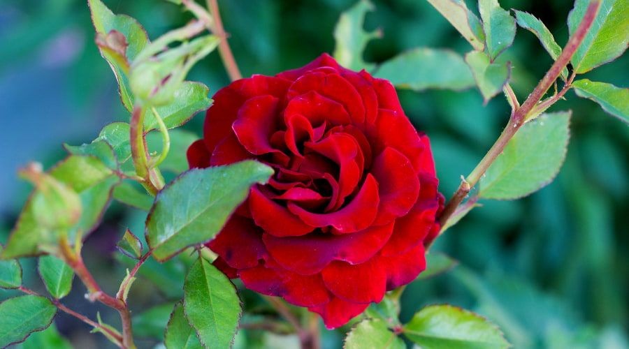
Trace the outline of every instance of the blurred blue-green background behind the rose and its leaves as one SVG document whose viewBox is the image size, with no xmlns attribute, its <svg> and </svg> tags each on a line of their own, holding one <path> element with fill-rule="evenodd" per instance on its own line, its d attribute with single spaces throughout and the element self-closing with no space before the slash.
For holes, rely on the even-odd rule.
<svg viewBox="0 0 629 349">
<path fill-rule="evenodd" d="M 27 162 L 51 165 L 64 156 L 62 143 L 96 138 L 112 121 L 127 121 L 117 97 L 115 78 L 94 45 L 87 1 L 0 0 L 0 242 L 5 242 L 29 193 L 16 170 Z M 380 62 L 413 47 L 448 47 L 460 53 L 469 45 L 423 0 L 373 1 L 366 27 L 384 31 L 366 50 L 366 60 Z M 190 19 L 178 6 L 157 0 L 106 0 L 117 13 L 139 20 L 150 38 Z M 301 66 L 334 48 L 338 16 L 354 0 L 220 0 L 226 31 L 236 60 L 248 76 L 273 74 Z M 563 45 L 568 36 L 567 0 L 503 0 L 503 8 L 540 17 Z M 475 8 L 468 1 L 470 8 Z M 513 63 L 512 87 L 522 99 L 550 66 L 537 39 L 518 29 L 505 53 Z M 629 55 L 587 77 L 628 87 Z M 191 80 L 211 93 L 229 80 L 218 54 L 194 68 Z M 407 115 L 426 131 L 440 177 L 440 190 L 454 192 L 506 124 L 509 106 L 502 96 L 483 105 L 469 91 L 400 91 Z M 435 244 L 433 251 L 459 261 L 452 272 L 410 285 L 403 296 L 403 320 L 421 306 L 450 303 L 475 310 L 502 327 L 515 348 L 628 348 L 629 325 L 629 127 L 609 117 L 591 101 L 572 92 L 554 110 L 571 108 L 572 139 L 556 180 L 519 201 L 482 202 Z M 203 116 L 186 128 L 199 132 Z M 540 154 L 542 155 L 542 154 Z M 124 228 L 142 231 L 143 213 L 113 205 L 99 230 L 88 239 L 89 267 L 113 292 L 124 276 L 115 262 L 115 242 Z M 117 257 L 120 259 L 120 257 Z M 185 260 L 182 261 L 185 265 Z M 33 260 L 23 260 L 26 283 L 41 289 Z M 147 265 L 131 293 L 139 313 L 153 304 L 178 299 L 181 264 L 164 269 Z M 144 267 L 143 267 L 144 268 Z M 83 299 L 75 281 L 66 303 L 92 317 L 95 309 L 115 324 L 115 314 Z M 12 293 L 0 290 L 0 299 Z M 245 294 L 245 303 L 254 299 Z M 251 301 L 253 304 L 256 300 Z M 140 341 L 151 348 L 172 305 L 154 309 L 140 321 Z M 161 313 L 160 313 L 161 311 Z M 161 318 L 160 318 L 161 316 Z M 59 332 L 75 348 L 110 348 L 87 327 L 66 315 Z M 153 321 L 154 323 L 152 323 Z M 160 329 L 161 326 L 161 329 Z M 342 334 L 326 333 L 326 348 L 339 348 Z M 274 339 L 291 346 L 290 339 Z M 256 342 L 257 343 L 257 342 Z M 239 336 L 236 346 L 252 348 Z M 40 347 L 41 348 L 41 347 Z"/>
</svg>

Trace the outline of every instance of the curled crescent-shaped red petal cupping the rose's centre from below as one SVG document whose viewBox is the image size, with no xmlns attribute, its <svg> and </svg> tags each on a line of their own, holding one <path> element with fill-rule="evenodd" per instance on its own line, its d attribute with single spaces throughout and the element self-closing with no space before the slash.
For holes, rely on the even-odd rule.
<svg viewBox="0 0 629 349">
<path fill-rule="evenodd" d="M 368 228 L 375 219 L 378 203 L 377 182 L 371 174 L 367 174 L 361 190 L 348 205 L 338 211 L 315 214 L 292 202 L 289 202 L 287 206 L 292 214 L 296 214 L 308 225 L 314 227 L 332 226 L 338 233 L 344 234 Z"/>
</svg>

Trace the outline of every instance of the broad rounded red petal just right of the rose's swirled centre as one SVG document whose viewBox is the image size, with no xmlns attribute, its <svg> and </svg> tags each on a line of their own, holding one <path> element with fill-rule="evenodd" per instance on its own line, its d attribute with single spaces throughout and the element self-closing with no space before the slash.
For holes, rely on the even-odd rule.
<svg viewBox="0 0 629 349">
<path fill-rule="evenodd" d="M 380 205 L 374 224 L 389 223 L 410 211 L 419 196 L 419 179 L 410 161 L 396 149 L 384 148 L 371 170 L 378 181 Z"/>
</svg>

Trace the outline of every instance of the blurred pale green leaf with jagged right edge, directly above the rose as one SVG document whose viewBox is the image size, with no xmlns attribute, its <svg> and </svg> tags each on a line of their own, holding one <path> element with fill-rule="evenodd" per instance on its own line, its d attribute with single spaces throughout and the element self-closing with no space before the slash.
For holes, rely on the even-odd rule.
<svg viewBox="0 0 629 349">
<path fill-rule="evenodd" d="M 380 31 L 366 32 L 365 16 L 375 10 L 369 0 L 360 0 L 341 13 L 334 29 L 334 58 L 341 66 L 352 70 L 371 70 L 374 64 L 363 61 L 363 51 L 370 40 L 382 36 Z"/>
</svg>

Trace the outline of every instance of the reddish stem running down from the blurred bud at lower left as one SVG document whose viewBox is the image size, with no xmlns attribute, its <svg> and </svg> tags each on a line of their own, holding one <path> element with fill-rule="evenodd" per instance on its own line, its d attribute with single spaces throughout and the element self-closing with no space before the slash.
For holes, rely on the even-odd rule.
<svg viewBox="0 0 629 349">
<path fill-rule="evenodd" d="M 80 253 L 75 253 L 70 244 L 68 244 L 68 240 L 65 236 L 59 239 L 59 246 L 61 247 L 61 255 L 64 262 L 73 269 L 85 287 L 87 287 L 89 299 L 92 300 L 92 302 L 97 300 L 110 308 L 116 309 L 120 314 L 120 320 L 122 322 L 122 347 L 135 349 L 136 345 L 133 343 L 133 329 L 131 327 L 131 312 L 126 306 L 126 303 L 122 302 L 121 299 L 111 297 L 106 292 L 103 292 L 101 286 L 96 283 L 94 276 L 92 276 L 89 270 L 87 270 L 87 267 L 85 267 Z"/>
</svg>

